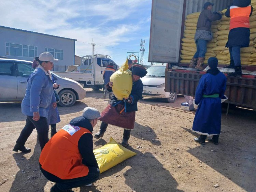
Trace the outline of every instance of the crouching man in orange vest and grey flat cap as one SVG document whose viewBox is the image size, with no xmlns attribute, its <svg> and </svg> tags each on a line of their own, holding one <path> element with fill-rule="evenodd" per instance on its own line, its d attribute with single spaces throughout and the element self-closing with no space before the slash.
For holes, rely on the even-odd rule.
<svg viewBox="0 0 256 192">
<path fill-rule="evenodd" d="M 72 119 L 44 146 L 39 165 L 43 175 L 56 182 L 51 192 L 72 192 L 99 179 L 91 134 L 99 117 L 97 109 L 84 108 L 83 116 Z"/>
</svg>

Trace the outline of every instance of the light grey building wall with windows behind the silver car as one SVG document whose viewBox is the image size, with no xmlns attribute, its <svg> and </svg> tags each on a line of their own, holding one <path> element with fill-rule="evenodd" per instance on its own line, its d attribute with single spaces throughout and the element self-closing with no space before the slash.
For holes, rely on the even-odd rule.
<svg viewBox="0 0 256 192">
<path fill-rule="evenodd" d="M 43 53 L 46 50 L 45 48 L 50 48 L 51 51 L 53 51 L 52 54 L 54 54 L 54 57 L 60 58 L 60 60 L 56 62 L 55 65 L 73 65 L 74 64 L 74 55 L 75 55 L 74 40 L 63 39 L 63 38 L 37 34 L 32 32 L 2 28 L 2 27 L 0 27 L 0 37 L 1 37 L 0 38 L 0 56 L 6 56 L 10 59 L 22 59 L 22 60 L 33 61 L 34 57 L 32 56 L 35 56 L 35 55 L 39 56 L 41 53 Z M 13 46 L 17 46 L 16 55 L 19 55 L 19 56 L 11 55 L 11 53 L 13 54 L 15 50 Z M 27 55 L 28 52 L 30 55 Z M 8 53 L 9 55 L 6 55 Z M 28 57 L 25 57 L 25 56 L 28 56 Z"/>
</svg>

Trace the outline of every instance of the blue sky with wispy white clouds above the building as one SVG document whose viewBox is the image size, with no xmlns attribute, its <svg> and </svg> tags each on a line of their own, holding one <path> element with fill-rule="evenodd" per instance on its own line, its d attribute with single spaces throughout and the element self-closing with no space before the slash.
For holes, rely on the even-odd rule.
<svg viewBox="0 0 256 192">
<path fill-rule="evenodd" d="M 79 56 L 92 54 L 93 39 L 95 53 L 119 65 L 145 38 L 147 64 L 151 0 L 2 0 L 0 12 L 2 26 L 77 39 Z"/>
</svg>

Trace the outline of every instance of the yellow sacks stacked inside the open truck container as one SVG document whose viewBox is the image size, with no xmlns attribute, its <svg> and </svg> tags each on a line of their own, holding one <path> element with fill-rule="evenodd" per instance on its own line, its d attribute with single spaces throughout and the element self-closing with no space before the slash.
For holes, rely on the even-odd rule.
<svg viewBox="0 0 256 192">
<path fill-rule="evenodd" d="M 251 1 L 254 7 L 252 16 L 250 17 L 250 45 L 249 47 L 241 48 L 241 64 L 242 65 L 256 65 L 256 0 Z M 229 64 L 230 54 L 226 46 L 229 34 L 230 18 L 225 16 L 227 9 L 223 10 L 222 19 L 213 21 L 211 31 L 213 32 L 213 40 L 207 44 L 207 53 L 205 54 L 205 61 L 209 57 L 217 57 L 219 64 Z M 185 20 L 184 38 L 182 39 L 181 63 L 190 63 L 190 60 L 196 53 L 196 44 L 194 36 L 196 33 L 197 20 L 200 12 L 187 15 Z"/>
</svg>

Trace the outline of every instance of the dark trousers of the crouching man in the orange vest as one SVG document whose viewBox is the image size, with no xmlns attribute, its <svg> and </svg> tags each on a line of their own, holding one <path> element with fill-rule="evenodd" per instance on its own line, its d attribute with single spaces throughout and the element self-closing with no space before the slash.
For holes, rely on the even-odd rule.
<svg viewBox="0 0 256 192">
<path fill-rule="evenodd" d="M 78 177 L 74 179 L 60 179 L 59 177 L 45 171 L 42 166 L 39 164 L 41 172 L 46 177 L 46 179 L 56 182 L 54 187 L 55 191 L 66 191 L 68 189 L 72 189 L 75 187 L 81 187 L 86 186 L 88 184 L 91 184 L 99 179 L 100 176 L 100 170 L 96 167 L 89 167 L 89 173 L 88 175 L 84 177 Z"/>
</svg>

